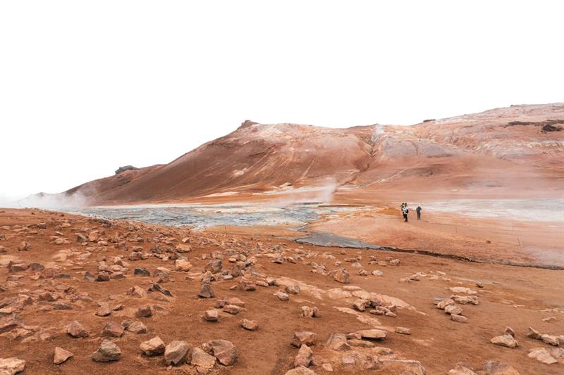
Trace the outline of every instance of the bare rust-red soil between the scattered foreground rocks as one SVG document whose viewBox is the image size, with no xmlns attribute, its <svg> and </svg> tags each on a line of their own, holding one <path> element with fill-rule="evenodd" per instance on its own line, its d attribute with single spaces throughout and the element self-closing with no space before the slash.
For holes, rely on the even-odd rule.
<svg viewBox="0 0 564 375">
<path fill-rule="evenodd" d="M 381 213 L 386 215 L 386 212 Z M 371 217 L 357 217 L 354 220 L 372 220 Z M 429 218 L 431 220 L 431 218 Z M 431 222 L 414 224 L 414 233 L 420 235 L 418 229 L 426 227 L 431 230 Z M 37 227 L 37 224 L 45 223 Z M 346 220 L 345 220 L 346 223 Z M 330 225 L 326 222 L 325 225 Z M 400 224 L 396 224 L 400 225 Z M 364 222 L 347 223 L 343 231 L 351 226 L 365 227 Z M 47 340 L 38 338 L 36 341 L 23 342 L 25 338 L 21 331 L 11 330 L 0 335 L 0 357 L 18 357 L 26 361 L 24 374 L 195 374 L 190 364 L 180 367 L 167 368 L 162 356 L 145 357 L 140 354 L 139 345 L 154 336 L 160 336 L 165 343 L 173 340 L 187 341 L 191 346 L 200 346 L 211 339 L 222 338 L 233 342 L 238 350 L 238 361 L 231 367 L 216 364 L 212 374 L 284 374 L 293 364 L 297 348 L 290 345 L 295 331 L 307 330 L 317 333 L 317 344 L 312 347 L 316 366 L 311 367 L 317 374 L 329 374 L 321 368 L 321 364 L 333 364 L 333 374 L 360 374 L 366 364 L 362 360 L 362 353 L 367 350 L 353 347 L 352 351 L 338 352 L 326 348 L 324 343 L 331 333 L 349 333 L 359 329 L 374 328 L 388 330 L 384 341 L 376 345 L 390 348 L 395 355 L 391 357 L 417 360 L 427 369 L 427 374 L 445 374 L 455 367 L 455 364 L 466 362 L 474 371 L 482 368 L 486 360 L 499 360 L 513 366 L 520 374 L 557 374 L 564 371 L 564 364 L 541 364 L 527 357 L 531 348 L 550 348 L 549 345 L 527 338 L 529 326 L 541 333 L 564 334 L 564 303 L 561 281 L 563 271 L 548 269 L 534 269 L 527 267 L 511 267 L 504 265 L 477 264 L 460 262 L 431 256 L 403 253 L 389 253 L 378 250 L 343 250 L 340 248 L 317 248 L 314 246 L 300 246 L 286 239 L 273 239 L 270 234 L 257 236 L 226 228 L 228 234 L 222 234 L 218 229 L 204 233 L 190 233 L 188 229 L 150 226 L 145 224 L 131 224 L 128 222 L 112 222 L 111 227 L 101 222 L 85 217 L 73 215 L 59 215 L 54 212 L 39 210 L 4 210 L 0 212 L 0 246 L 4 246 L 6 253 L 0 254 L 0 286 L 5 291 L 0 292 L 0 300 L 29 295 L 31 303 L 16 311 L 25 326 L 37 326 L 30 329 L 30 335 L 35 335 L 41 329 L 52 329 L 55 337 Z M 334 229 L 334 228 L 333 228 Z M 90 231 L 98 230 L 101 238 L 87 241 L 85 246 L 77 242 L 77 234 L 88 236 Z M 225 229 L 224 229 L 225 230 Z M 59 234 L 56 234 L 59 231 Z M 264 233 L 264 231 L 262 231 Z M 57 245 L 59 239 L 68 239 L 69 243 Z M 135 239 L 140 237 L 143 242 Z M 151 253 L 153 246 L 173 249 L 184 237 L 189 238 L 192 247 L 190 253 L 183 253 L 192 263 L 190 272 L 174 271 L 173 260 L 148 258 L 146 260 L 128 260 L 128 254 L 133 246 L 142 246 L 146 253 Z M 381 239 L 367 235 L 367 239 Z M 444 237 L 444 241 L 448 239 Z M 29 249 L 18 251 L 22 241 L 29 243 Z M 104 243 L 103 241 L 108 241 Z M 125 241 L 128 250 L 118 249 L 116 242 Z M 413 240 L 412 240 L 413 241 Z M 427 239 L 424 239 L 427 241 Z M 395 241 L 394 241 L 395 242 Z M 168 244 L 167 244 L 168 243 Z M 412 242 L 413 243 L 413 242 Z M 398 245 L 398 243 L 395 243 Z M 107 246 L 105 246 L 107 245 Z M 403 245 L 403 243 L 402 243 Z M 409 243 L 405 243 L 408 246 Z M 460 245 L 464 249 L 465 245 Z M 497 246 L 497 245 L 496 245 Z M 202 320 L 204 310 L 214 306 L 216 298 L 200 299 L 200 276 L 209 260 L 202 260 L 206 255 L 219 251 L 225 255 L 226 250 L 235 255 L 245 253 L 247 258 L 256 258 L 252 270 L 259 274 L 275 277 L 280 284 L 290 280 L 290 284 L 300 281 L 300 293 L 290 294 L 290 300 L 283 302 L 274 297 L 278 290 L 276 286 L 257 286 L 257 291 L 230 290 L 238 285 L 238 279 L 215 281 L 212 286 L 216 297 L 237 297 L 245 302 L 245 311 L 238 315 L 221 312 L 220 322 L 205 322 Z M 66 259 L 61 258 L 68 252 Z M 79 259 L 82 254 L 89 256 Z M 166 253 L 173 255 L 173 253 Z M 284 255 L 295 258 L 293 262 L 276 264 L 271 262 L 273 257 Z M 342 262 L 341 267 L 348 269 L 350 284 L 340 284 L 330 276 L 312 272 L 312 262 L 326 264 L 327 270 L 336 269 L 335 259 L 327 258 L 333 255 Z M 129 265 L 126 267 L 125 279 L 111 279 L 105 282 L 90 282 L 83 280 L 85 271 L 97 274 L 99 261 L 105 260 L 109 265 L 115 256 L 122 256 Z M 228 262 L 231 255 L 223 258 L 223 269 L 231 269 Z M 400 264 L 378 265 L 370 263 L 371 256 L 381 262 L 397 258 Z M 362 268 L 369 276 L 357 274 L 353 263 L 345 258 L 359 258 Z M 25 262 L 39 262 L 46 269 L 39 272 L 26 270 L 22 272 L 8 272 L 6 265 L 9 260 L 23 260 Z M 384 264 L 384 263 L 383 263 Z M 134 277 L 133 269 L 143 267 L 153 274 L 157 267 L 171 270 L 170 281 L 162 282 L 161 286 L 171 291 L 173 297 L 165 298 L 160 293 L 150 293 L 146 298 L 133 298 L 125 293 L 132 286 L 147 289 L 152 277 Z M 381 277 L 371 274 L 380 269 L 384 272 Z M 245 277 L 252 281 L 259 279 L 257 274 L 252 276 L 251 269 L 247 269 Z M 424 272 L 428 276 L 420 281 L 400 281 L 410 277 L 415 272 Z M 444 272 L 439 274 L 438 272 Z M 54 277 L 68 274 L 68 279 Z M 430 277 L 434 275 L 434 277 Z M 442 276 L 441 276 L 442 275 Z M 188 277 L 188 278 L 187 278 Z M 476 282 L 481 282 L 483 288 L 477 288 Z M 305 284 L 302 284 L 305 283 Z M 358 286 L 364 291 L 384 293 L 404 300 L 413 309 L 398 308 L 397 317 L 384 317 L 357 312 L 357 315 L 340 312 L 334 307 L 353 308 L 356 298 L 343 295 L 329 296 L 326 291 L 344 286 Z M 478 292 L 479 305 L 460 305 L 463 315 L 468 318 L 467 323 L 457 323 L 449 319 L 442 310 L 437 309 L 434 298 L 442 296 L 448 298 L 453 286 L 466 286 Z M 60 299 L 54 302 L 39 300 L 40 291 L 53 291 Z M 320 293 L 320 294 L 316 294 Z M 78 295 L 82 300 L 75 300 Z M 71 310 L 53 310 L 56 303 L 65 301 L 71 304 Z M 97 317 L 94 310 L 97 303 L 108 301 L 113 307 L 118 303 L 124 305 L 123 310 L 113 311 L 109 317 Z M 153 317 L 135 318 L 134 313 L 140 305 L 157 306 Z M 319 318 L 304 318 L 300 316 L 300 306 L 316 306 L 321 312 Z M 554 317 L 548 321 L 544 318 Z M 239 326 L 240 319 L 255 319 L 259 322 L 257 331 L 245 331 Z M 375 318 L 379 324 L 367 323 L 367 318 Z M 0 317 L 3 319 L 3 317 Z M 142 321 L 149 333 L 136 335 L 126 332 L 121 338 L 112 340 L 121 348 L 121 360 L 117 362 L 98 363 L 90 359 L 90 355 L 101 342 L 102 327 L 106 322 L 121 322 L 123 319 Z M 71 338 L 64 333 L 66 324 L 73 320 L 81 322 L 89 331 L 88 338 Z M 393 327 L 410 328 L 410 336 L 393 332 Z M 501 335 L 505 326 L 515 330 L 515 338 L 520 346 L 515 349 L 503 348 L 491 344 L 494 336 Z M 18 335 L 19 333 L 19 335 Z M 25 336 L 25 335 L 24 335 Z M 67 362 L 61 365 L 52 363 L 53 351 L 56 346 L 74 353 Z M 359 353 L 356 364 L 344 366 L 341 364 L 343 354 Z M 381 356 L 383 359 L 386 356 Z M 388 356 L 389 357 L 389 356 Z M 359 360 L 361 358 L 361 360 Z M 382 369 L 379 374 L 395 374 L 391 370 Z"/>
</svg>

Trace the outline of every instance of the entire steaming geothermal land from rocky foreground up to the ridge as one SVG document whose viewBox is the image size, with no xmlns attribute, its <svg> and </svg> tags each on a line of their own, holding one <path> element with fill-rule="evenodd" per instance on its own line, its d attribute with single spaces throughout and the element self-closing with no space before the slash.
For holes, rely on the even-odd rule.
<svg viewBox="0 0 564 375">
<path fill-rule="evenodd" d="M 1 208 L 0 374 L 564 374 L 563 129 L 247 120 Z"/>
</svg>

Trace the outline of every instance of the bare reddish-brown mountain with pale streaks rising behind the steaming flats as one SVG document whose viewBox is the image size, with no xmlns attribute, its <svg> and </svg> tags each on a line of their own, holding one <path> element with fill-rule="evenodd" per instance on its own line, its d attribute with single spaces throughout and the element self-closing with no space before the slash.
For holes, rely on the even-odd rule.
<svg viewBox="0 0 564 375">
<path fill-rule="evenodd" d="M 333 191 L 562 193 L 564 103 L 411 126 L 333 129 L 245 121 L 166 165 L 118 170 L 59 194 L 105 205 Z"/>
</svg>

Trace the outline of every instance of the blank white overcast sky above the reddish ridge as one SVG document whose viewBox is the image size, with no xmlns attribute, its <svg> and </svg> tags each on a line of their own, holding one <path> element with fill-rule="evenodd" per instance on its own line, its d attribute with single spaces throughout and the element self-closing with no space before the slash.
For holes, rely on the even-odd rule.
<svg viewBox="0 0 564 375">
<path fill-rule="evenodd" d="M 168 163 L 245 119 L 409 125 L 563 101 L 563 14 L 564 1 L 1 1 L 0 205 Z"/>
</svg>

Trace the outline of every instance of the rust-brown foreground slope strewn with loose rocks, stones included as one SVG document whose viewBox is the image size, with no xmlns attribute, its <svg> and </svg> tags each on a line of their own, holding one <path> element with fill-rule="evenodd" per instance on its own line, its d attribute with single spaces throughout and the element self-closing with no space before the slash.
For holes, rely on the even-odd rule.
<svg viewBox="0 0 564 375">
<path fill-rule="evenodd" d="M 0 211 L 0 374 L 558 374 L 564 272 Z"/>
</svg>

